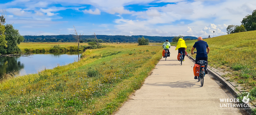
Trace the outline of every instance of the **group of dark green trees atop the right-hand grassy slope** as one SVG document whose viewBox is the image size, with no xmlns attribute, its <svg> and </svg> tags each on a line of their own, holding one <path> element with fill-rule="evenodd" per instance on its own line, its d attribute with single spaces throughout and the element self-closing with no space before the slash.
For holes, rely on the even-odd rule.
<svg viewBox="0 0 256 115">
<path fill-rule="evenodd" d="M 252 15 L 246 15 L 245 18 L 241 21 L 241 25 L 228 25 L 227 33 L 239 33 L 245 31 L 253 31 L 256 30 L 256 10 L 252 12 Z"/>
</svg>

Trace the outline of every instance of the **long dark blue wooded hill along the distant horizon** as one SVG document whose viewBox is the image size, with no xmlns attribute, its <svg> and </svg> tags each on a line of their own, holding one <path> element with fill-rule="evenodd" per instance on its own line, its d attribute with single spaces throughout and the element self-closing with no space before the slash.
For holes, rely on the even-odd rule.
<svg viewBox="0 0 256 115">
<path fill-rule="evenodd" d="M 137 42 L 139 37 L 144 36 L 148 38 L 149 42 L 164 42 L 166 39 L 172 41 L 173 37 L 163 37 L 163 36 L 147 36 L 147 35 L 96 35 L 100 42 Z M 24 42 L 76 42 L 74 35 L 24 35 Z M 184 38 L 197 39 L 192 36 L 184 36 Z M 83 42 L 92 42 L 95 41 L 94 35 L 83 35 L 81 37 Z"/>
</svg>

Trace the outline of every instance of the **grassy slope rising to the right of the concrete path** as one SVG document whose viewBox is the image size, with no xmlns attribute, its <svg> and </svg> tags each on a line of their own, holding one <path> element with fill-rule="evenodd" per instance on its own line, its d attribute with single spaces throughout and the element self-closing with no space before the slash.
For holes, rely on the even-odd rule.
<svg viewBox="0 0 256 115">
<path fill-rule="evenodd" d="M 186 41 L 188 53 L 196 41 Z M 231 77 L 229 80 L 251 89 L 252 95 L 256 97 L 256 31 L 222 35 L 204 41 L 210 48 L 210 65 L 233 72 L 227 75 Z M 171 44 L 177 45 L 177 42 Z"/>
</svg>

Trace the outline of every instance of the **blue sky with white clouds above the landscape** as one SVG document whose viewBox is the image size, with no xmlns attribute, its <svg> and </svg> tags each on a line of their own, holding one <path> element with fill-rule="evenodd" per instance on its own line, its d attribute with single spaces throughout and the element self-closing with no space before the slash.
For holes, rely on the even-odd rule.
<svg viewBox="0 0 256 115">
<path fill-rule="evenodd" d="M 241 25 L 256 0 L 1 0 L 21 35 L 214 36 Z"/>
</svg>

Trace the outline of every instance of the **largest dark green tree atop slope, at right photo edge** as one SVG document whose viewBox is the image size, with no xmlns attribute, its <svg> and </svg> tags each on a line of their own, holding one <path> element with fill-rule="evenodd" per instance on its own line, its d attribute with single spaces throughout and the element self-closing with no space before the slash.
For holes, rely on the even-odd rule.
<svg viewBox="0 0 256 115">
<path fill-rule="evenodd" d="M 252 12 L 252 15 L 246 15 L 241 21 L 246 31 L 256 30 L 256 10 Z"/>
</svg>

